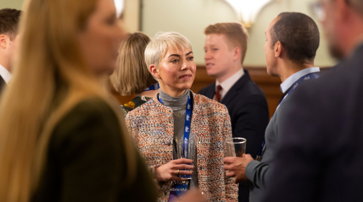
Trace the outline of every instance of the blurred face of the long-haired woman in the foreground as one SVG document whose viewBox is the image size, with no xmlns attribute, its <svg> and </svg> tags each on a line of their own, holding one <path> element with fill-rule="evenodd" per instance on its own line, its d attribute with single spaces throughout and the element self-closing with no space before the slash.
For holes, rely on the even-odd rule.
<svg viewBox="0 0 363 202">
<path fill-rule="evenodd" d="M 81 51 L 95 75 L 112 74 L 118 45 L 124 35 L 113 1 L 99 0 L 85 30 L 79 34 Z"/>
</svg>

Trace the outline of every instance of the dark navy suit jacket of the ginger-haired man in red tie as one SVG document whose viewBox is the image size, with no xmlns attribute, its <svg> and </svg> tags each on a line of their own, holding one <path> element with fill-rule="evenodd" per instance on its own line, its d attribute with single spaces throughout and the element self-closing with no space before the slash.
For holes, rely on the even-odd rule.
<svg viewBox="0 0 363 202">
<path fill-rule="evenodd" d="M 213 99 L 215 83 L 203 88 L 199 94 Z M 231 118 L 233 138 L 246 138 L 246 153 L 256 157 L 269 122 L 269 111 L 265 94 L 251 80 L 247 70 L 229 91 L 221 103 L 226 105 Z M 249 201 L 249 186 L 241 183 L 238 201 Z"/>
</svg>

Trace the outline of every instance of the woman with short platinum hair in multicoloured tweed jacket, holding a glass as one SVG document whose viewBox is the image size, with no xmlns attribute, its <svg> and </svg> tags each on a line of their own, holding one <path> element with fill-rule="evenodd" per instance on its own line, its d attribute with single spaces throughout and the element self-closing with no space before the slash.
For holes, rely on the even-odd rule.
<svg viewBox="0 0 363 202">
<path fill-rule="evenodd" d="M 237 185 L 223 170 L 225 140 L 232 137 L 228 111 L 189 90 L 196 73 L 193 58 L 186 37 L 176 32 L 157 33 L 146 47 L 145 61 L 159 81 L 159 93 L 129 112 L 126 124 L 142 157 L 154 169 L 161 186 L 158 201 L 174 197 L 169 194 L 172 187 L 187 180 L 179 175 L 192 175 L 188 186 L 199 188 L 208 201 L 236 201 Z M 186 139 L 196 143 L 194 162 L 174 158 L 177 140 Z"/>
</svg>

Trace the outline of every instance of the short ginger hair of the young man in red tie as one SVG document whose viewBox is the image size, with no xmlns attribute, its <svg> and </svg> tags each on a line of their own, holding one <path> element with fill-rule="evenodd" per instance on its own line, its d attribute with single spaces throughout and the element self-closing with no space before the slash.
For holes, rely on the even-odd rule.
<svg viewBox="0 0 363 202">
<path fill-rule="evenodd" d="M 223 34 L 229 40 L 229 47 L 241 49 L 241 64 L 243 64 L 247 51 L 249 38 L 247 29 L 240 23 L 217 23 L 204 29 L 204 34 Z"/>
</svg>

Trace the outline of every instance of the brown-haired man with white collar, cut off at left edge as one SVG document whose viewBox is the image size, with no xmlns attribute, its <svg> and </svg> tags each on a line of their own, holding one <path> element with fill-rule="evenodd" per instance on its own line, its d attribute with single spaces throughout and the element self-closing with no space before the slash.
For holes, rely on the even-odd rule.
<svg viewBox="0 0 363 202">
<path fill-rule="evenodd" d="M 20 14 L 16 9 L 0 10 L 0 92 L 11 79 Z"/>
</svg>

